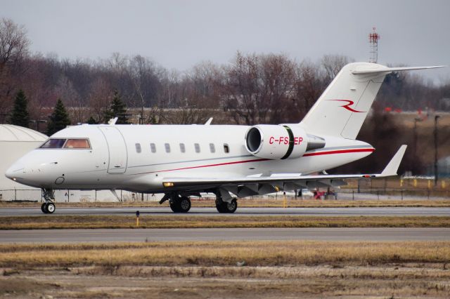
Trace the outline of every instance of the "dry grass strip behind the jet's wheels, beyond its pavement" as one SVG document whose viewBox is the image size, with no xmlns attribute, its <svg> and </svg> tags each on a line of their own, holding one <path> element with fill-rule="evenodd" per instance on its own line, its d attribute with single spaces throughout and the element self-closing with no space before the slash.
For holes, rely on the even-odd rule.
<svg viewBox="0 0 450 299">
<path fill-rule="evenodd" d="M 355 195 L 356 196 L 356 195 Z M 198 200 L 191 199 L 192 206 L 197 208 L 215 208 L 214 200 Z M 278 199 L 239 199 L 240 208 L 282 208 L 284 206 L 283 198 Z M 58 202 L 58 207 L 75 207 L 75 208 L 108 208 L 108 207 L 143 207 L 155 208 L 167 206 L 160 205 L 158 201 L 126 201 L 126 202 Z M 0 201 L 0 208 L 17 208 L 17 207 L 35 207 L 40 208 L 41 203 L 37 202 L 15 202 Z M 383 199 L 383 200 L 315 200 L 315 199 L 293 199 L 288 198 L 285 201 L 286 208 L 357 208 L 357 207 L 449 207 L 450 199 Z"/>
</svg>

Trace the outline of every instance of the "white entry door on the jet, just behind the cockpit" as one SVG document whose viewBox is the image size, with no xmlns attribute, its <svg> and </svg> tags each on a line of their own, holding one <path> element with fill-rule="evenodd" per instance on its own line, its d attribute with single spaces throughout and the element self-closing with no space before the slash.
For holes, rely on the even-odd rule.
<svg viewBox="0 0 450 299">
<path fill-rule="evenodd" d="M 110 161 L 108 173 L 124 173 L 127 170 L 127 146 L 125 140 L 114 126 L 100 126 L 100 131 L 105 135 L 108 144 Z"/>
</svg>

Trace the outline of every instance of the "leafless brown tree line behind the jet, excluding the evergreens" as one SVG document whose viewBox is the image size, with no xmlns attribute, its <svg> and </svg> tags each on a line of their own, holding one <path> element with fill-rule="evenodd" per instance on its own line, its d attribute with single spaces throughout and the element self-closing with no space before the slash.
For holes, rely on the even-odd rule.
<svg viewBox="0 0 450 299">
<path fill-rule="evenodd" d="M 42 108 L 53 107 L 61 98 L 66 107 L 72 107 L 73 122 L 89 117 L 104 122 L 103 112 L 117 90 L 128 107 L 151 108 L 143 115 L 144 123 L 203 121 L 202 115 L 191 114 L 201 114 L 205 108 L 229 111 L 224 121 L 236 124 L 300 121 L 340 68 L 351 61 L 342 55 L 298 62 L 283 54 L 237 52 L 227 65 L 200 62 L 178 72 L 141 55 L 113 53 L 95 61 L 59 59 L 30 53 L 25 28 L 5 18 L 0 21 L 0 41 L 1 122 L 6 121 L 19 89 L 30 101 L 32 119 L 42 117 Z M 449 86 L 392 74 L 378 95 L 378 106 L 448 109 L 438 100 L 450 98 Z M 169 119 L 160 111 L 165 108 L 181 108 L 182 113 Z"/>
</svg>

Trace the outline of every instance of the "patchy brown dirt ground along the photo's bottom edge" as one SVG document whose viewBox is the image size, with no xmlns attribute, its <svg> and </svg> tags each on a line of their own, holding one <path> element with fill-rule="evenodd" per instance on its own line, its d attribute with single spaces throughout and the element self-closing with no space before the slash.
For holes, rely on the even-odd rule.
<svg viewBox="0 0 450 299">
<path fill-rule="evenodd" d="M 182 273 L 182 275 L 180 275 Z M 25 283 L 20 283 L 24 281 Z M 450 272 L 437 264 L 383 267 L 74 267 L 0 277 L 8 298 L 448 298 Z M 3 288 L 3 286 L 7 286 Z"/>
</svg>

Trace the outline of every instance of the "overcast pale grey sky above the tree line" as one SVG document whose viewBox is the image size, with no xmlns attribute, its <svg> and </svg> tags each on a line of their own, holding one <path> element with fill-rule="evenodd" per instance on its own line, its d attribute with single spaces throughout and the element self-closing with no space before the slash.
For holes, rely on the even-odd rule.
<svg viewBox="0 0 450 299">
<path fill-rule="evenodd" d="M 202 60 L 229 62 L 238 50 L 367 61 L 373 26 L 378 62 L 450 65 L 449 0 L 0 0 L 1 17 L 27 27 L 34 52 L 140 54 L 181 71 Z M 450 81 L 450 67 L 423 74 Z"/>
</svg>

